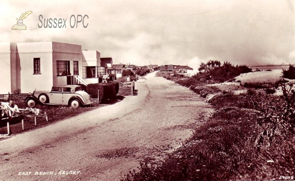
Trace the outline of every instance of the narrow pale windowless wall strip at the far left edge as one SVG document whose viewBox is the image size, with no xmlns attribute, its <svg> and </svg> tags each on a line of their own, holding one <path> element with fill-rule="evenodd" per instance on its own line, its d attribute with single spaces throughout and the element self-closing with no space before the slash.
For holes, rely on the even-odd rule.
<svg viewBox="0 0 295 181">
<path fill-rule="evenodd" d="M 11 93 L 10 43 L 0 43 L 0 94 Z"/>
</svg>

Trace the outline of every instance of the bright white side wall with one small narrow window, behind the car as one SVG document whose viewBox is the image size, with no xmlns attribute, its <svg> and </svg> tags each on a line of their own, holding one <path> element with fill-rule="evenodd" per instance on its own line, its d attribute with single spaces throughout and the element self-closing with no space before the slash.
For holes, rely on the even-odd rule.
<svg viewBox="0 0 295 181">
<path fill-rule="evenodd" d="M 20 59 L 20 88 L 22 93 L 51 90 L 52 42 L 17 43 Z M 40 58 L 40 73 L 33 74 L 33 58 Z"/>
</svg>

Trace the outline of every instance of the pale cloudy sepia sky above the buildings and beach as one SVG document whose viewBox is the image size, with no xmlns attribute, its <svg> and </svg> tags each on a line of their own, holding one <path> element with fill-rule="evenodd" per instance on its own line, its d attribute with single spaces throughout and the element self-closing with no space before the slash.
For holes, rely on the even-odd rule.
<svg viewBox="0 0 295 181">
<path fill-rule="evenodd" d="M 78 44 L 137 65 L 289 64 L 295 63 L 294 7 L 294 0 L 0 0 L 0 42 Z M 11 30 L 29 10 L 27 30 Z M 87 28 L 70 27 L 78 14 L 88 15 Z M 39 15 L 67 19 L 66 28 L 39 28 Z"/>
</svg>

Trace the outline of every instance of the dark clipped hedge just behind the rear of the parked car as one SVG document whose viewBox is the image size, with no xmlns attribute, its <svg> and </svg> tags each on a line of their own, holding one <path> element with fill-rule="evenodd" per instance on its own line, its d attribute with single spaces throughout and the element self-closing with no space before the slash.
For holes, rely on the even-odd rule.
<svg viewBox="0 0 295 181">
<path fill-rule="evenodd" d="M 118 93 L 117 83 L 91 83 L 87 85 L 87 92 L 91 98 L 97 98 L 97 93 L 99 90 L 99 99 L 102 102 L 108 99 L 115 99 Z"/>
</svg>

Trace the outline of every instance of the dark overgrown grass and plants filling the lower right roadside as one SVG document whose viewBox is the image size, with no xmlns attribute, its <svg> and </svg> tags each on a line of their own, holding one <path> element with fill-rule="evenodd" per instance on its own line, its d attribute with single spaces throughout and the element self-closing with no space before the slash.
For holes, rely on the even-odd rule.
<svg viewBox="0 0 295 181">
<path fill-rule="evenodd" d="M 215 111 L 160 164 L 142 162 L 121 181 L 293 180 L 295 92 L 255 89 L 215 96 Z"/>
</svg>

